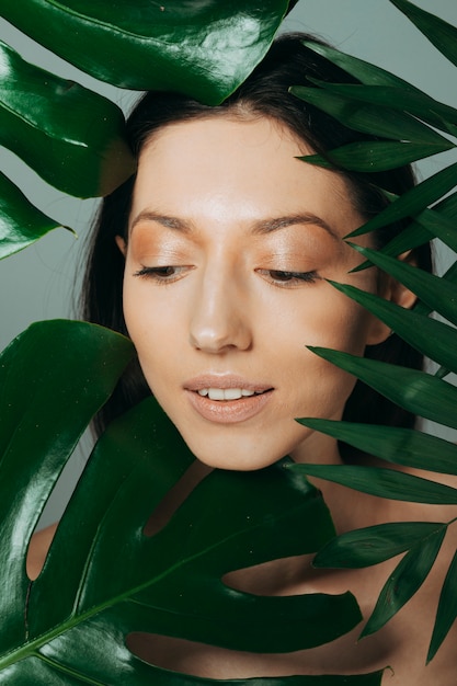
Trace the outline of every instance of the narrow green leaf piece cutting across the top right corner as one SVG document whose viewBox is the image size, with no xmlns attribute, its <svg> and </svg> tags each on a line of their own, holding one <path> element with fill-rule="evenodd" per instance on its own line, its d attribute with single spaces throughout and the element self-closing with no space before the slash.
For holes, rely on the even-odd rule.
<svg viewBox="0 0 457 686">
<path fill-rule="evenodd" d="M 457 67 L 457 28 L 408 0 L 390 0 Z"/>
</svg>

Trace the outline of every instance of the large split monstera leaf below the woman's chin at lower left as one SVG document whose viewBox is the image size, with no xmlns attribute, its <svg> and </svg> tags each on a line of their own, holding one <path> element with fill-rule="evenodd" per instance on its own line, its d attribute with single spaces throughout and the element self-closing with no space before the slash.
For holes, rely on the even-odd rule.
<svg viewBox="0 0 457 686">
<path fill-rule="evenodd" d="M 142 662 L 128 636 L 289 652 L 361 620 L 349 593 L 269 597 L 225 582 L 229 572 L 316 551 L 333 537 L 319 492 L 285 468 L 288 460 L 260 472 L 215 470 L 146 535 L 151 512 L 194 461 L 152 398 L 102 436 L 41 575 L 28 580 L 24 559 L 43 506 L 130 357 L 118 334 L 65 321 L 34 324 L 1 357 L 2 684 L 203 684 Z M 375 686 L 380 677 L 290 678 Z"/>
</svg>

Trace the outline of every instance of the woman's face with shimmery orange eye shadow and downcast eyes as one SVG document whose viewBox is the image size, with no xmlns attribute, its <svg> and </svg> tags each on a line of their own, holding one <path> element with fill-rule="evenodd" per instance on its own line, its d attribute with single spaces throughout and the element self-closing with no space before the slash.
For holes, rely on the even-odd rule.
<svg viewBox="0 0 457 686">
<path fill-rule="evenodd" d="M 313 355 L 363 355 L 387 329 L 325 279 L 376 291 L 342 238 L 362 222 L 344 181 L 261 118 L 197 119 L 139 160 L 124 309 L 146 379 L 193 453 L 226 469 L 286 454 L 338 461 L 295 418 L 340 419 L 354 379 Z"/>
</svg>

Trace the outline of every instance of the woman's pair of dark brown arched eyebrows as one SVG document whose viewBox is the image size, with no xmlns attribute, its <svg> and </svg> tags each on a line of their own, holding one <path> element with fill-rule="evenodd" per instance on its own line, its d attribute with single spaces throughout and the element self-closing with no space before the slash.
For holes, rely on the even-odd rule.
<svg viewBox="0 0 457 686">
<path fill-rule="evenodd" d="M 146 209 L 140 211 L 139 215 L 135 217 L 130 226 L 130 232 L 134 230 L 136 225 L 141 221 L 156 221 L 168 229 L 174 229 L 181 231 L 182 233 L 191 233 L 194 228 L 192 221 L 186 221 L 180 219 L 179 217 L 171 217 Z M 318 226 L 327 231 L 334 240 L 340 241 L 340 236 L 332 229 L 332 227 L 321 217 L 318 217 L 312 213 L 299 213 L 285 215 L 283 217 L 274 217 L 271 219 L 261 219 L 254 222 L 252 232 L 254 235 L 262 236 L 299 224 Z"/>
</svg>

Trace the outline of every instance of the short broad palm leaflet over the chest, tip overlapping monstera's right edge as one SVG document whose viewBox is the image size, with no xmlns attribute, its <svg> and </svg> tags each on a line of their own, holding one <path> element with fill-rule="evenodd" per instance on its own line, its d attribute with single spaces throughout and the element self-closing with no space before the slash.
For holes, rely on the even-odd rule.
<svg viewBox="0 0 457 686">
<path fill-rule="evenodd" d="M 347 531 L 329 541 L 312 561 L 317 568 L 363 569 L 409 550 L 424 538 L 442 531 L 435 522 L 395 522 Z"/>
</svg>

